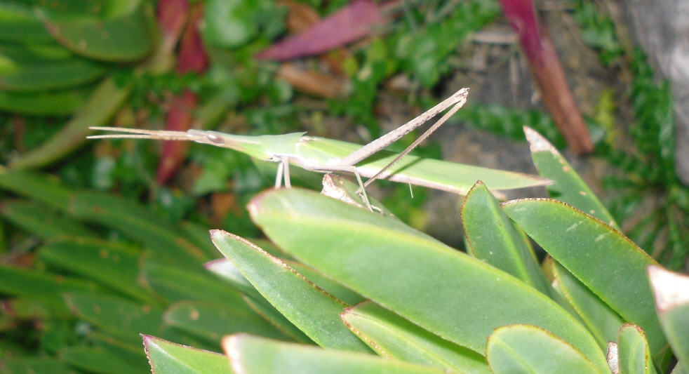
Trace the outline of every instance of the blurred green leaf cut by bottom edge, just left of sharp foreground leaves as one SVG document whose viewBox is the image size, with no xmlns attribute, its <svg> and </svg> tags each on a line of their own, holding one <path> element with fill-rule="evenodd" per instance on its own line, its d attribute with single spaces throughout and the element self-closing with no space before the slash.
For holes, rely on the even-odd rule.
<svg viewBox="0 0 689 374">
<path fill-rule="evenodd" d="M 113 346 L 76 345 L 60 351 L 60 358 L 89 373 L 150 373 L 146 357 Z"/>
</svg>

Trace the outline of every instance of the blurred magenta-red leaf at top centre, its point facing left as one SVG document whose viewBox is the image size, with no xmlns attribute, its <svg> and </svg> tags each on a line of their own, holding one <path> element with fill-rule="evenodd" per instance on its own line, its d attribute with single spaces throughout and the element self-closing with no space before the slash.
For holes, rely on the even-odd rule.
<svg viewBox="0 0 689 374">
<path fill-rule="evenodd" d="M 258 53 L 264 60 L 290 60 L 319 55 L 366 36 L 385 19 L 377 4 L 370 0 L 354 0 L 344 8 L 323 18 L 309 29 Z"/>
</svg>

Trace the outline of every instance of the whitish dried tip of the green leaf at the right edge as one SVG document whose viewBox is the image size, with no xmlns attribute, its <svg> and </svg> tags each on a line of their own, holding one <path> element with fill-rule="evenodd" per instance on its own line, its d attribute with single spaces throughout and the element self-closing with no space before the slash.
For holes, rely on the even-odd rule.
<svg viewBox="0 0 689 374">
<path fill-rule="evenodd" d="M 646 269 L 658 312 L 662 313 L 677 305 L 689 303 L 689 276 L 670 272 L 656 265 Z"/>
</svg>

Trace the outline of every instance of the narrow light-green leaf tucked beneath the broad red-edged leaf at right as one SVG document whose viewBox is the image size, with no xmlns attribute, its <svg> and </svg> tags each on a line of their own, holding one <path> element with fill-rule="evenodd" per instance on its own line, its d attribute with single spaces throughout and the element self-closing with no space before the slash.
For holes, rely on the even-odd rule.
<svg viewBox="0 0 689 374">
<path fill-rule="evenodd" d="M 555 261 L 551 261 L 551 264 L 555 280 L 563 295 L 591 330 L 601 349 L 605 349 L 608 342 L 616 340 L 617 332 L 624 321 L 619 314 L 615 313 L 601 298 L 598 298 L 562 265 Z"/>
</svg>

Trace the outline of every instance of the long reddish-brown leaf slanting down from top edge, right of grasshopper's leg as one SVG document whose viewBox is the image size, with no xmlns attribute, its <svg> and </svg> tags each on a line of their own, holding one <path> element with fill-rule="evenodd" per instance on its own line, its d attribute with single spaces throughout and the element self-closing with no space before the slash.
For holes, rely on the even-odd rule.
<svg viewBox="0 0 689 374">
<path fill-rule="evenodd" d="M 521 48 L 529 60 L 531 75 L 539 87 L 543 104 L 576 154 L 592 152 L 591 138 L 577 109 L 565 73 L 545 27 L 539 27 L 531 0 L 500 0 L 505 17 L 519 35 Z"/>
</svg>

